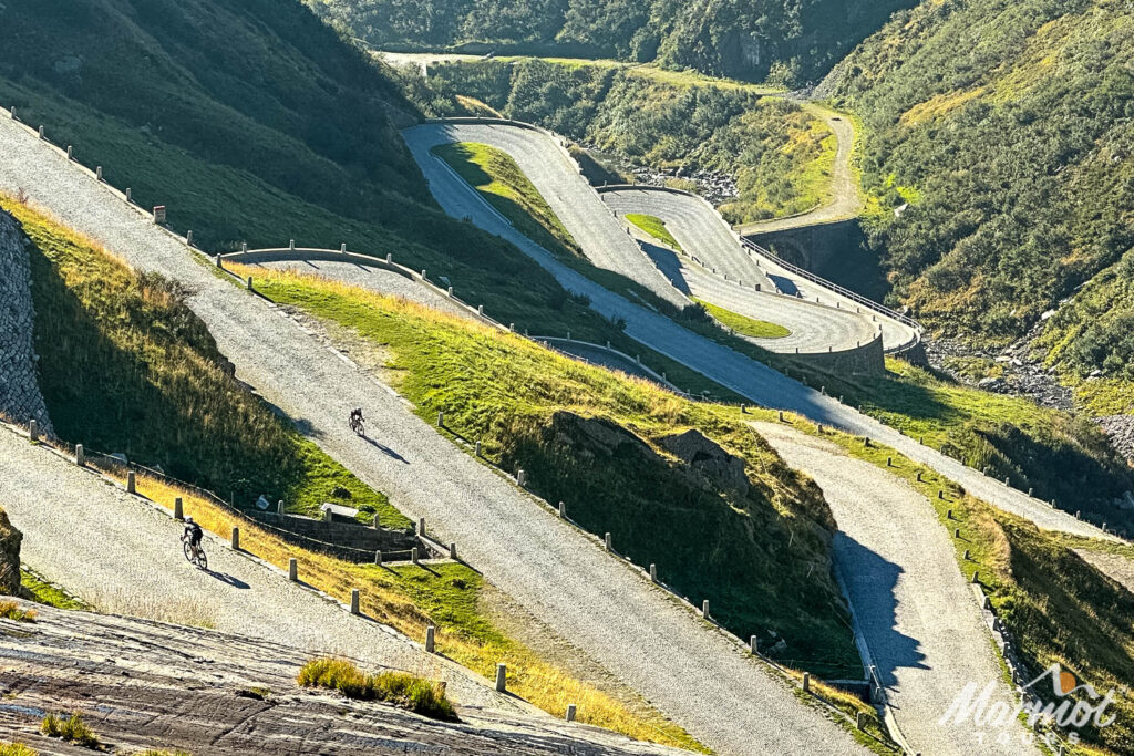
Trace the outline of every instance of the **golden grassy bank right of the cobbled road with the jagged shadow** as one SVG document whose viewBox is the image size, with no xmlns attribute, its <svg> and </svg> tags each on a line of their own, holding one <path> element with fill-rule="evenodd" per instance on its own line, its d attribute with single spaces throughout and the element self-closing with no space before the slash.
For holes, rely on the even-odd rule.
<svg viewBox="0 0 1134 756">
<path fill-rule="evenodd" d="M 771 411 L 754 413 L 759 419 L 776 419 Z M 786 417 L 796 428 L 818 434 L 811 421 L 796 415 Z M 960 530 L 960 537 L 953 540 L 957 566 L 968 580 L 979 574 L 981 586 L 1033 676 L 1058 663 L 1081 682 L 1093 685 L 1100 695 L 1115 690 L 1117 700 L 1109 711 L 1118 715 L 1115 724 L 1081 729 L 1085 745 L 1069 753 L 1129 753 L 1134 746 L 1134 700 L 1127 691 L 1134 680 L 1134 626 L 1129 621 L 1134 594 L 1075 550 L 1117 553 L 1134 560 L 1134 547 L 1041 530 L 966 494 L 936 470 L 894 449 L 877 442 L 865 447 L 861 438 L 830 430 L 822 435 L 850 456 L 900 477 L 929 500 L 950 535 Z M 888 465 L 888 460 L 892 464 Z M 1049 688 L 1046 700 L 1050 699 Z"/>
</svg>

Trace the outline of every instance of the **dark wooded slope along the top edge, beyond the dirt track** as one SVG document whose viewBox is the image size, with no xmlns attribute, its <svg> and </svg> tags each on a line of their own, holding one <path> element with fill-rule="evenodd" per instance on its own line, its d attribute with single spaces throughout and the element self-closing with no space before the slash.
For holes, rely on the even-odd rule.
<svg viewBox="0 0 1134 756">
<path fill-rule="evenodd" d="M 795 85 L 909 0 L 311 0 L 378 48 L 620 58 Z"/>
</svg>

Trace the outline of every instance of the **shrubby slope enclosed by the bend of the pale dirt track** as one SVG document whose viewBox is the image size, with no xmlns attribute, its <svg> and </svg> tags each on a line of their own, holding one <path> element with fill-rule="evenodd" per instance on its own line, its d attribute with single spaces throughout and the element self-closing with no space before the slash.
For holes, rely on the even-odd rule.
<svg viewBox="0 0 1134 756">
<path fill-rule="evenodd" d="M 509 118 L 638 165 L 727 173 L 738 196 L 721 212 L 735 222 L 810 210 L 830 181 L 833 135 L 798 105 L 765 96 L 760 87 L 653 68 L 538 59 L 435 65 L 429 86 L 483 100 Z"/>
</svg>

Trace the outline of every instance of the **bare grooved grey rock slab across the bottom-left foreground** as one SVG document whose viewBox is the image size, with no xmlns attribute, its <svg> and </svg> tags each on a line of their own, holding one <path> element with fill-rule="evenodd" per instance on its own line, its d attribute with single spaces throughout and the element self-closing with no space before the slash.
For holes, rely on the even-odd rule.
<svg viewBox="0 0 1134 756">
<path fill-rule="evenodd" d="M 459 724 L 299 688 L 302 651 L 248 637 L 36 608 L 0 620 L 0 740 L 90 754 L 37 733 L 81 711 L 116 753 L 679 754 L 551 717 L 460 710 Z M 378 671 L 378 670 L 372 670 Z"/>
</svg>

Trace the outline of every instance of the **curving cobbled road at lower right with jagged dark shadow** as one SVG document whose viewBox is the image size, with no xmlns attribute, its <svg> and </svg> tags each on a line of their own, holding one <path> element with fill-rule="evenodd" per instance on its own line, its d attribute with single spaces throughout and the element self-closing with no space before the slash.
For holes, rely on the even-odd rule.
<svg viewBox="0 0 1134 756">
<path fill-rule="evenodd" d="M 970 682 L 996 685 L 1014 703 L 949 533 L 932 504 L 904 481 L 787 425 L 755 423 L 792 467 L 823 490 L 839 524 L 833 557 L 878 668 L 898 729 L 914 751 L 934 756 L 1018 755 L 1027 730 L 941 724 Z M 1001 738 L 1004 736 L 1004 739 Z"/>
</svg>

